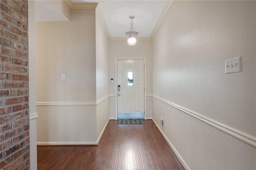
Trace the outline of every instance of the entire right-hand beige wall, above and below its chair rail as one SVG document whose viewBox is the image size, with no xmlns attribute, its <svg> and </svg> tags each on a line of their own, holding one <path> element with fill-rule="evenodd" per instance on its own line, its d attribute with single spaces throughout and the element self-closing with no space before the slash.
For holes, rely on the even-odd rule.
<svg viewBox="0 0 256 170">
<path fill-rule="evenodd" d="M 190 169 L 256 168 L 255 144 L 227 132 L 255 141 L 255 6 L 174 1 L 153 39 L 153 119 Z M 225 74 L 239 56 L 242 72 Z"/>
</svg>

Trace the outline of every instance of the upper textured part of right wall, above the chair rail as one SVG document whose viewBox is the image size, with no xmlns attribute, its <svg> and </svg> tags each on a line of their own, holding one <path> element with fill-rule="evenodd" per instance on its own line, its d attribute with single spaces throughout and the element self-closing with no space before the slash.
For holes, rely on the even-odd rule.
<svg viewBox="0 0 256 170">
<path fill-rule="evenodd" d="M 255 15 L 255 1 L 174 1 L 153 41 L 154 95 L 256 136 Z M 225 74 L 239 56 L 242 72 Z"/>
</svg>

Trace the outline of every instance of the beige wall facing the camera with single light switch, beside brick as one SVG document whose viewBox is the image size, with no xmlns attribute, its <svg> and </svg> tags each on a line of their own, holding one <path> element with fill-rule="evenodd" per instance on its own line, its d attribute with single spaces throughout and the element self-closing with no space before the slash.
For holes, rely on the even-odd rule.
<svg viewBox="0 0 256 170">
<path fill-rule="evenodd" d="M 70 22 L 36 23 L 38 144 L 96 144 L 95 22 L 71 10 Z"/>
</svg>

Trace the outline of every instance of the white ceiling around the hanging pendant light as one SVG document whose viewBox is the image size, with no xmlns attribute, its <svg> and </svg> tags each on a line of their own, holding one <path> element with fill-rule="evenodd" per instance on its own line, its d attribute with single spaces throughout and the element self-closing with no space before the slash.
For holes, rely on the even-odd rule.
<svg viewBox="0 0 256 170">
<path fill-rule="evenodd" d="M 149 38 L 167 0 L 72 0 L 73 3 L 98 2 L 111 38 L 125 38 L 133 15 L 138 38 Z M 68 21 L 51 0 L 35 1 L 36 21 Z"/>
</svg>

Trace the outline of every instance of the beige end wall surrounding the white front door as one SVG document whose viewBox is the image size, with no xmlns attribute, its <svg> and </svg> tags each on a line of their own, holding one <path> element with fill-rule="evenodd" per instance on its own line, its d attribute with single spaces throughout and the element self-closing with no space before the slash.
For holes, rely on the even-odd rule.
<svg viewBox="0 0 256 170">
<path fill-rule="evenodd" d="M 110 41 L 109 42 L 109 77 L 115 80 L 115 58 L 146 58 L 147 71 L 147 95 L 152 94 L 152 42 L 138 41 L 134 47 L 130 47 L 127 41 Z M 110 95 L 115 95 L 115 83 L 110 84 Z M 110 119 L 116 117 L 115 99 L 110 97 Z M 148 97 L 147 97 L 148 98 Z M 149 97 L 150 98 L 150 97 Z M 147 99 L 148 100 L 148 99 Z M 150 100 L 150 99 L 149 99 Z M 151 115 L 151 105 L 147 105 L 147 117 Z"/>
</svg>

